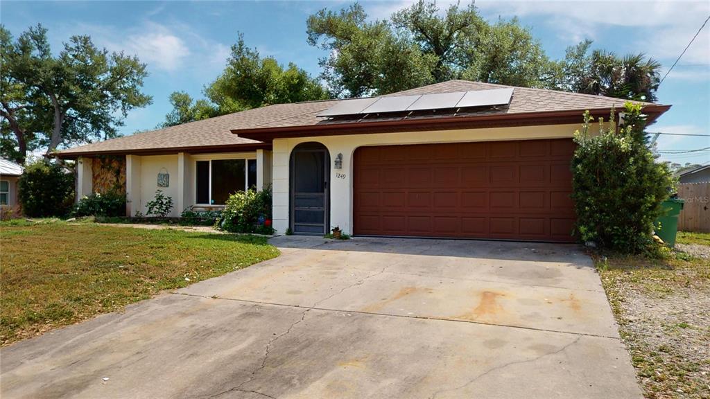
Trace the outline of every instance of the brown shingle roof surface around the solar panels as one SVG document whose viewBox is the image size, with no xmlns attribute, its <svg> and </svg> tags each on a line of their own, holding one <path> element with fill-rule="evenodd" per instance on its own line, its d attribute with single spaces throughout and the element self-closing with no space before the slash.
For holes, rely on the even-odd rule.
<svg viewBox="0 0 710 399">
<path fill-rule="evenodd" d="M 498 89 L 501 84 L 469 82 L 466 80 L 449 80 L 437 84 L 430 84 L 416 89 L 405 90 L 388 94 L 388 96 L 400 96 L 408 94 L 432 94 L 446 92 L 462 92 L 469 90 Z M 236 112 L 224 116 L 217 116 L 203 121 L 195 121 L 178 126 L 171 126 L 165 129 L 136 133 L 132 136 L 114 138 L 100 143 L 87 144 L 76 148 L 60 151 L 59 155 L 76 156 L 88 153 L 131 153 L 145 151 L 170 151 L 180 149 L 190 151 L 191 148 L 204 149 L 212 147 L 253 147 L 260 144 L 260 141 L 249 140 L 239 137 L 239 131 L 258 131 L 259 129 L 279 129 L 297 126 L 317 126 L 317 125 L 337 125 L 352 124 L 353 120 L 324 119 L 317 117 L 320 111 L 329 109 L 335 103 L 347 100 L 325 100 L 317 102 L 300 102 L 294 104 L 275 104 L 264 106 L 258 109 Z M 621 109 L 626 100 L 611 97 L 595 96 L 591 94 L 576 94 L 568 92 L 557 92 L 545 89 L 530 89 L 525 87 L 515 87 L 513 98 L 508 106 L 498 106 L 493 108 L 479 109 L 458 112 L 437 112 L 437 114 L 421 114 L 414 116 L 415 119 L 437 119 L 466 116 L 490 116 L 490 115 L 515 115 L 530 113 L 545 113 L 555 111 L 581 110 L 584 109 L 610 109 L 616 107 Z M 657 106 L 658 104 L 643 103 L 645 105 Z M 368 124 L 376 121 L 398 121 L 403 116 L 385 115 L 359 121 L 361 124 Z M 408 116 L 408 119 L 413 119 Z M 337 126 L 333 126 L 337 127 Z M 234 131 L 233 134 L 231 133 Z"/>
</svg>

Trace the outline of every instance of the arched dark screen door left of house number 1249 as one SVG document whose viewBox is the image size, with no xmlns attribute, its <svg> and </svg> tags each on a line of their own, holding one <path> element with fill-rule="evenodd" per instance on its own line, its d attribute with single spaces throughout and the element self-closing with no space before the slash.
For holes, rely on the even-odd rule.
<svg viewBox="0 0 710 399">
<path fill-rule="evenodd" d="M 330 155 L 321 143 L 301 143 L 290 159 L 289 226 L 293 234 L 329 231 Z"/>
</svg>

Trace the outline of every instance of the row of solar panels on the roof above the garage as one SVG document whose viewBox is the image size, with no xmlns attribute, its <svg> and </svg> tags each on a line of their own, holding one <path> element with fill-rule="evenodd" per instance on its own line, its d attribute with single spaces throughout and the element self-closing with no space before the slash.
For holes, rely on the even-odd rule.
<svg viewBox="0 0 710 399">
<path fill-rule="evenodd" d="M 317 116 L 345 116 L 382 114 L 403 111 L 430 111 L 434 109 L 457 109 L 474 106 L 509 104 L 513 88 L 475 90 L 437 94 L 417 94 L 414 96 L 372 97 L 348 99 L 338 102 Z"/>
</svg>

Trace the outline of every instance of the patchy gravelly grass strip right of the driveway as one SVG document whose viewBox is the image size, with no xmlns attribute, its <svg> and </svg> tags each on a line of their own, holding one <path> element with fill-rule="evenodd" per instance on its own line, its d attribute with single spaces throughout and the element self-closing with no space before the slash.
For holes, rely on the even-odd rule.
<svg viewBox="0 0 710 399">
<path fill-rule="evenodd" d="M 645 397 L 710 398 L 710 261 L 684 253 L 595 258 Z"/>
</svg>

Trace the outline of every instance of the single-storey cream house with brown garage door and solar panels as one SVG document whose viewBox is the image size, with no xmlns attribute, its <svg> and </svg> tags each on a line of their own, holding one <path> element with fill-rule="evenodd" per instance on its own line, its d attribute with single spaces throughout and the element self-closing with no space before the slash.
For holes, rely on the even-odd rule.
<svg viewBox="0 0 710 399">
<path fill-rule="evenodd" d="M 79 195 L 125 164 L 126 212 L 155 190 L 219 208 L 273 187 L 279 233 L 571 241 L 572 137 L 624 100 L 452 80 L 384 97 L 275 104 L 60 151 Z M 650 122 L 670 106 L 643 103 Z M 160 182 L 160 184 L 159 184 Z"/>
</svg>

